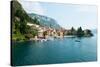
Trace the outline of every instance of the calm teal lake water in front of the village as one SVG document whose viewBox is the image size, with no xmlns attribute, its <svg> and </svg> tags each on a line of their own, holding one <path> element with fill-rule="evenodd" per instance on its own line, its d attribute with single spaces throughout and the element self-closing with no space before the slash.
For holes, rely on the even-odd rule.
<svg viewBox="0 0 100 67">
<path fill-rule="evenodd" d="M 76 42 L 79 40 L 80 42 Z M 97 60 L 97 36 L 45 42 L 12 43 L 12 65 L 38 65 Z"/>
</svg>

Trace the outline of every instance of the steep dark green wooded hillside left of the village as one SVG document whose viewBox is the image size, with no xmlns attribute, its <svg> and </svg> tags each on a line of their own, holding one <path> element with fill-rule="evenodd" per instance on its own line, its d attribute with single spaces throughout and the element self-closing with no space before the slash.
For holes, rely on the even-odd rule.
<svg viewBox="0 0 100 67">
<path fill-rule="evenodd" d="M 37 34 L 37 30 L 31 30 L 27 22 L 39 24 L 37 19 L 28 16 L 18 1 L 11 2 L 12 8 L 12 40 L 27 40 Z"/>
</svg>

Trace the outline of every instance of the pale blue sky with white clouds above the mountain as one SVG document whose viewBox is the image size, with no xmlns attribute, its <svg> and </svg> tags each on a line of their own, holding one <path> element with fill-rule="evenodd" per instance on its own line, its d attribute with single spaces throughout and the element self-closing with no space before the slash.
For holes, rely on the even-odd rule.
<svg viewBox="0 0 100 67">
<path fill-rule="evenodd" d="M 97 6 L 86 4 L 62 4 L 48 2 L 19 1 L 27 13 L 36 13 L 51 17 L 66 29 L 97 28 Z"/>
</svg>

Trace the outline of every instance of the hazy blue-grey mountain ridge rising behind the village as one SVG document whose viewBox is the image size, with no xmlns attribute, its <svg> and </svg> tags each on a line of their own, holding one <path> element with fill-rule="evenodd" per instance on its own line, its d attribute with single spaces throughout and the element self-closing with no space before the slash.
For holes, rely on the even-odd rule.
<svg viewBox="0 0 100 67">
<path fill-rule="evenodd" d="M 54 29 L 60 29 L 60 25 L 57 24 L 56 20 L 54 20 L 53 18 L 47 17 L 47 16 L 43 16 L 43 15 L 38 15 L 35 13 L 30 13 L 28 14 L 30 17 L 37 18 L 39 21 L 39 24 L 41 26 L 47 26 L 47 27 L 51 27 Z"/>
</svg>

